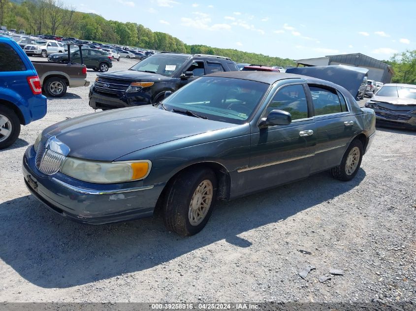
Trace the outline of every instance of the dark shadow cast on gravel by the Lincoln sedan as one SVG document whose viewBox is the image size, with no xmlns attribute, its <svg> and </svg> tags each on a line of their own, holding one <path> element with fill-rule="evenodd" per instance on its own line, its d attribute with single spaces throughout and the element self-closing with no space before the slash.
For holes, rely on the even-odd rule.
<svg viewBox="0 0 416 311">
<path fill-rule="evenodd" d="M 27 281 L 65 288 L 141 271 L 219 240 L 241 248 L 252 242 L 242 232 L 286 219 L 356 187 L 327 172 L 217 205 L 204 230 L 181 238 L 160 218 L 104 226 L 73 223 L 50 212 L 32 196 L 0 204 L 0 257 Z"/>
</svg>

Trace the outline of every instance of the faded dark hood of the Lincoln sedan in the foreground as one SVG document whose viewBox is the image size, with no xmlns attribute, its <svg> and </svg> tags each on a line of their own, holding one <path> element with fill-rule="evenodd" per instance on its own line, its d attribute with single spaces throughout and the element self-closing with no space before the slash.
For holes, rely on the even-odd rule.
<svg viewBox="0 0 416 311">
<path fill-rule="evenodd" d="M 160 143 L 233 127 L 235 124 L 171 113 L 153 106 L 90 113 L 56 123 L 43 131 L 70 149 L 68 156 L 114 161 Z"/>
</svg>

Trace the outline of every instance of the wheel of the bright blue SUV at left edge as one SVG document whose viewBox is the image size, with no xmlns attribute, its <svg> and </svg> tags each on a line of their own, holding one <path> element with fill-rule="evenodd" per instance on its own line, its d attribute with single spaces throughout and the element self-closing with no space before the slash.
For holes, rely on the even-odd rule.
<svg viewBox="0 0 416 311">
<path fill-rule="evenodd" d="M 12 145 L 20 134 L 20 121 L 16 113 L 0 105 L 0 149 Z"/>
</svg>

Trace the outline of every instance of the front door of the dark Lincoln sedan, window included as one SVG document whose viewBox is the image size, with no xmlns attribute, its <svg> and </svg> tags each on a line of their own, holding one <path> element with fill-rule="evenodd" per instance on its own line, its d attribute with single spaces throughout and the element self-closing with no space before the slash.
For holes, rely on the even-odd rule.
<svg viewBox="0 0 416 311">
<path fill-rule="evenodd" d="M 304 84 L 280 87 L 262 117 L 272 110 L 291 113 L 289 125 L 251 130 L 250 190 L 260 190 L 307 177 L 315 152 L 315 123 Z"/>
</svg>

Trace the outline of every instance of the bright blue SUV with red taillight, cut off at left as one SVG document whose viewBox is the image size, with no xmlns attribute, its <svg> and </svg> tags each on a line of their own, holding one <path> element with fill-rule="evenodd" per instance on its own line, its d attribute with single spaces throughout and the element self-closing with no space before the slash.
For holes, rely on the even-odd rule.
<svg viewBox="0 0 416 311">
<path fill-rule="evenodd" d="M 46 97 L 32 62 L 15 41 L 0 37 L 0 149 L 17 140 L 21 124 L 45 114 Z"/>
</svg>

